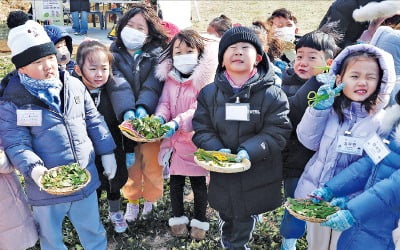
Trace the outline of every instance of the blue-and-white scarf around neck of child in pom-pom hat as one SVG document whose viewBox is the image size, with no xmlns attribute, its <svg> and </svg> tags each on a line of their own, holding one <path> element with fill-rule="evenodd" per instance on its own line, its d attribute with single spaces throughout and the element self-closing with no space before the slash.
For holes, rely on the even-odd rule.
<svg viewBox="0 0 400 250">
<path fill-rule="evenodd" d="M 19 72 L 18 75 L 21 84 L 24 85 L 29 93 L 61 113 L 60 92 L 63 84 L 58 77 L 37 80 Z"/>
</svg>

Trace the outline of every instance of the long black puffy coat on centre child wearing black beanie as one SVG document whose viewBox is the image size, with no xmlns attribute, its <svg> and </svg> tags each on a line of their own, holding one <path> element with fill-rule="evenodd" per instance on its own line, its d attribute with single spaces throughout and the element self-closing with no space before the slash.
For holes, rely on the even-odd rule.
<svg viewBox="0 0 400 250">
<path fill-rule="evenodd" d="M 268 65 L 268 64 L 267 64 Z M 233 217 L 256 215 L 281 205 L 281 151 L 291 131 L 285 93 L 274 85 L 272 67 L 258 68 L 234 94 L 224 73 L 204 87 L 193 117 L 193 142 L 205 150 L 245 149 L 251 168 L 245 172 L 211 172 L 208 199 L 211 207 Z M 225 104 L 236 97 L 250 104 L 250 121 L 225 120 Z"/>
</svg>

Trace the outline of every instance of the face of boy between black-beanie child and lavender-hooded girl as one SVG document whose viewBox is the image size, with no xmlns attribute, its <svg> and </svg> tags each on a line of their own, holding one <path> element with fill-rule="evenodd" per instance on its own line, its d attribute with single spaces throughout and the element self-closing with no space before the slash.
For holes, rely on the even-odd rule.
<svg viewBox="0 0 400 250">
<path fill-rule="evenodd" d="M 310 79 L 312 76 L 322 73 L 322 67 L 328 64 L 325 60 L 324 52 L 308 47 L 297 49 L 296 59 L 294 60 L 294 72 L 301 79 Z"/>
</svg>

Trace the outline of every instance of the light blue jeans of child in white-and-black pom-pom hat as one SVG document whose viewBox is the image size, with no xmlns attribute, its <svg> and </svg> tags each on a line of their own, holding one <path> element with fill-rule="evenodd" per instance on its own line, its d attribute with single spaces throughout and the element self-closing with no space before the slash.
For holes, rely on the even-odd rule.
<svg viewBox="0 0 400 250">
<path fill-rule="evenodd" d="M 49 206 L 33 206 L 39 224 L 41 250 L 67 250 L 63 242 L 62 224 L 68 216 L 85 250 L 107 249 L 106 231 L 100 220 L 96 192 L 83 200 Z"/>
</svg>

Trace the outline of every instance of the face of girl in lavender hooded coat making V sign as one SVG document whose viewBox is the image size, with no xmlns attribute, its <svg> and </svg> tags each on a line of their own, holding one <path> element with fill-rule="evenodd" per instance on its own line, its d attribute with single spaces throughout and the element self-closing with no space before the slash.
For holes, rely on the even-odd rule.
<svg viewBox="0 0 400 250">
<path fill-rule="evenodd" d="M 379 65 L 372 58 L 356 58 L 350 61 L 343 76 L 336 77 L 336 84 L 346 84 L 343 94 L 355 102 L 362 102 L 370 97 L 379 81 Z"/>
</svg>

